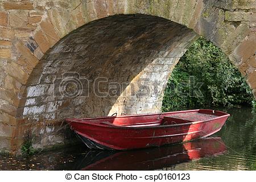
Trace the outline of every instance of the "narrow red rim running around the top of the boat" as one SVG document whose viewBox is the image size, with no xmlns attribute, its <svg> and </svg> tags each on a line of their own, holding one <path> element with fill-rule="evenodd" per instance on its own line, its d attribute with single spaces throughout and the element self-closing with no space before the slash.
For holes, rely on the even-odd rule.
<svg viewBox="0 0 256 182">
<path fill-rule="evenodd" d="M 156 125 L 156 126 L 133 126 L 133 127 L 129 127 L 129 126 L 122 126 L 122 125 L 102 125 L 100 123 L 93 123 L 93 122 L 86 122 L 86 120 L 94 120 L 94 119 L 104 119 L 104 118 L 125 118 L 125 117 L 138 117 L 139 116 L 144 116 L 144 115 L 162 115 L 162 114 L 175 114 L 175 113 L 189 113 L 189 112 L 193 112 L 193 111 L 200 111 L 200 110 L 208 110 L 208 111 L 213 111 L 213 112 L 218 112 L 224 115 L 220 115 L 217 116 L 215 118 L 211 118 L 211 119 L 206 119 L 206 120 L 202 120 L 202 121 L 193 121 L 193 122 L 187 122 L 187 123 L 180 123 L 180 124 L 172 124 L 172 125 Z M 209 114 L 211 115 L 211 114 Z M 213 115 L 213 114 L 212 114 Z M 167 113 L 152 113 L 152 114 L 134 114 L 134 115 L 120 115 L 118 117 L 114 116 L 114 117 L 98 117 L 98 118 L 84 118 L 83 120 L 85 121 L 77 121 L 78 119 L 75 118 L 67 118 L 65 119 L 65 121 L 67 121 L 69 124 L 71 123 L 80 123 L 80 124 L 87 124 L 87 125 L 92 125 L 92 126 L 98 126 L 98 127 L 106 127 L 106 128 L 113 128 L 113 129 L 131 129 L 131 130 L 138 130 L 138 129 L 152 129 L 152 128 L 162 128 L 162 127 L 177 127 L 177 126 L 186 126 L 186 125 L 196 125 L 199 123 L 204 123 L 204 122 L 210 122 L 210 121 L 215 121 L 217 119 L 221 119 L 221 118 L 226 118 L 229 117 L 230 114 L 225 113 L 223 111 L 219 111 L 219 110 L 211 110 L 211 109 L 195 109 L 195 110 L 185 110 L 185 111 L 172 111 L 172 112 L 167 112 Z M 80 119 L 82 120 L 82 119 Z"/>
</svg>

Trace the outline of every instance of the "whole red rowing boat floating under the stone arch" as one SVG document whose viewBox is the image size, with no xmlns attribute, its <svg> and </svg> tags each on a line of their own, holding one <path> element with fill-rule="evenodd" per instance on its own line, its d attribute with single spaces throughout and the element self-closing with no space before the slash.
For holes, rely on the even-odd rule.
<svg viewBox="0 0 256 182">
<path fill-rule="evenodd" d="M 228 117 L 222 111 L 197 109 L 65 121 L 89 148 L 130 150 L 208 137 Z"/>
</svg>

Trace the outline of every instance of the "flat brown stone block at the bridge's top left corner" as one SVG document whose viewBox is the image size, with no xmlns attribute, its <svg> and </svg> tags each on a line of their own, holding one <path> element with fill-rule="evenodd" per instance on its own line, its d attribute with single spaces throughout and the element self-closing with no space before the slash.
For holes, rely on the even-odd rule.
<svg viewBox="0 0 256 182">
<path fill-rule="evenodd" d="M 13 2 L 7 1 L 3 2 L 3 8 L 6 10 L 32 10 L 34 9 L 33 3 L 28 1 Z"/>
</svg>

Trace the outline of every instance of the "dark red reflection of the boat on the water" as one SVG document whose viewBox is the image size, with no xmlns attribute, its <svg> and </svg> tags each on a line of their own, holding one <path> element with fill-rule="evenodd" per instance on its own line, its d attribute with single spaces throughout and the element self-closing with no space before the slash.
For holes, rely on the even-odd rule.
<svg viewBox="0 0 256 182">
<path fill-rule="evenodd" d="M 210 137 L 183 144 L 133 151 L 90 150 L 77 167 L 82 170 L 147 170 L 171 167 L 175 164 L 226 151 L 220 137 Z"/>
</svg>

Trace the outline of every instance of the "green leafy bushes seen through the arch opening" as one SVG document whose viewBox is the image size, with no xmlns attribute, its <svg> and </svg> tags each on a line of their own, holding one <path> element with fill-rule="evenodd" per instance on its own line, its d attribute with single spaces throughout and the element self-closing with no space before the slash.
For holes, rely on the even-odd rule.
<svg viewBox="0 0 256 182">
<path fill-rule="evenodd" d="M 163 111 L 255 106 L 245 78 L 220 48 L 199 38 L 181 57 L 164 91 Z"/>
</svg>

